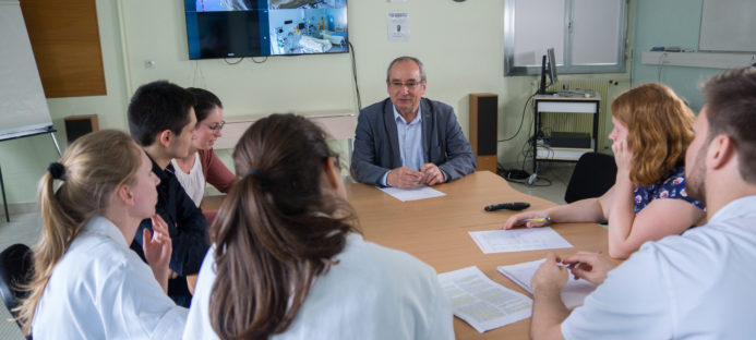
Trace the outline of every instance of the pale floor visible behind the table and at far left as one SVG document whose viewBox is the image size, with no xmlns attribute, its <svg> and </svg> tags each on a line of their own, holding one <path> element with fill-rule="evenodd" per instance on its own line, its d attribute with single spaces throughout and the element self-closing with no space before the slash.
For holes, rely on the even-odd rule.
<svg viewBox="0 0 756 340">
<path fill-rule="evenodd" d="M 564 204 L 564 191 L 567 187 L 574 163 L 552 163 L 543 168 L 540 180 L 533 186 L 511 182 L 515 190 L 545 198 L 556 204 Z M 548 182 L 550 185 L 545 185 Z M 11 222 L 4 219 L 0 221 L 0 251 L 15 243 L 24 243 L 32 246 L 36 243 L 40 232 L 39 215 L 35 212 L 11 214 Z M 0 304 L 0 339 L 22 340 L 24 337 L 10 321 L 11 315 L 3 304 Z"/>
</svg>

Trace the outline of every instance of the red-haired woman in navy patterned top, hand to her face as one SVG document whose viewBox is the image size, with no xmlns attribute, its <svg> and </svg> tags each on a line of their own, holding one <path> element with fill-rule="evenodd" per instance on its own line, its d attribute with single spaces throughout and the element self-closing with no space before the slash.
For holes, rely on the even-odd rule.
<svg viewBox="0 0 756 340">
<path fill-rule="evenodd" d="M 680 234 L 704 218 L 704 205 L 687 196 L 685 150 L 695 117 L 672 89 L 644 84 L 611 105 L 609 138 L 617 167 L 614 185 L 587 198 L 511 217 L 502 227 L 541 227 L 548 222 L 609 222 L 609 255 L 627 258 L 646 241 Z"/>
</svg>

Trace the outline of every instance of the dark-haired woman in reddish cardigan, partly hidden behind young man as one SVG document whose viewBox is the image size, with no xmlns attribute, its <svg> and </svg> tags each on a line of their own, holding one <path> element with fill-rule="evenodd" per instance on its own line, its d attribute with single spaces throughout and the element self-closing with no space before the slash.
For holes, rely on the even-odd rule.
<svg viewBox="0 0 756 340">
<path fill-rule="evenodd" d="M 179 183 L 199 207 L 205 194 L 205 183 L 213 184 L 221 193 L 228 193 L 233 184 L 233 173 L 228 171 L 213 150 L 213 145 L 221 136 L 220 130 L 226 124 L 220 99 L 206 89 L 189 87 L 187 90 L 196 101 L 196 137 L 192 139 L 189 156 L 173 158 L 170 162 Z M 208 218 L 207 221 L 213 220 Z"/>
</svg>

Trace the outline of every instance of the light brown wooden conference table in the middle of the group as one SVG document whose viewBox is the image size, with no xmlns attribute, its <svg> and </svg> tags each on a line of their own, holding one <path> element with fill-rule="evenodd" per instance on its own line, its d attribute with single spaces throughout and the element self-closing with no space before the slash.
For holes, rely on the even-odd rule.
<svg viewBox="0 0 756 340">
<path fill-rule="evenodd" d="M 490 279 L 532 298 L 496 271 L 496 266 L 540 259 L 550 251 L 487 255 L 468 232 L 499 229 L 514 214 L 507 210 L 487 212 L 483 210 L 487 205 L 527 202 L 530 203 L 529 209 L 543 209 L 554 204 L 523 194 L 489 171 L 475 172 L 434 189 L 446 196 L 400 202 L 374 186 L 350 183 L 347 184 L 347 197 L 357 210 L 359 228 L 365 240 L 412 254 L 437 272 L 478 266 Z M 203 202 L 206 208 L 218 205 L 217 201 Z M 607 231 L 598 224 L 568 223 L 551 227 L 575 246 L 551 252 L 569 255 L 580 250 L 607 254 Z M 457 339 L 527 339 L 529 327 L 528 318 L 481 335 L 467 323 L 454 318 Z"/>
</svg>

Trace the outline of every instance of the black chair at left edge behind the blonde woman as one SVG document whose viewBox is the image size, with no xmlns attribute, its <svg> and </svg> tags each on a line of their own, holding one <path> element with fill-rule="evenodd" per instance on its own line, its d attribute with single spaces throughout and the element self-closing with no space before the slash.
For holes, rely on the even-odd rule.
<svg viewBox="0 0 756 340">
<path fill-rule="evenodd" d="M 33 270 L 32 250 L 25 244 L 13 244 L 0 253 L 0 298 L 14 318 L 19 315 L 13 308 L 27 295 L 16 284 L 28 282 Z"/>
</svg>

